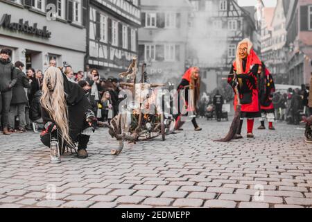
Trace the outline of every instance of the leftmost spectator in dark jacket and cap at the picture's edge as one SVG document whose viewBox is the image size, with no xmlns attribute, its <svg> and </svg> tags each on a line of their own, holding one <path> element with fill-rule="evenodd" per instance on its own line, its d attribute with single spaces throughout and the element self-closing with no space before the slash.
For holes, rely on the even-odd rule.
<svg viewBox="0 0 312 222">
<path fill-rule="evenodd" d="M 0 52 L 0 113 L 2 117 L 3 134 L 10 135 L 8 130 L 8 114 L 12 99 L 12 87 L 17 82 L 17 69 L 10 60 L 10 49 Z"/>
</svg>

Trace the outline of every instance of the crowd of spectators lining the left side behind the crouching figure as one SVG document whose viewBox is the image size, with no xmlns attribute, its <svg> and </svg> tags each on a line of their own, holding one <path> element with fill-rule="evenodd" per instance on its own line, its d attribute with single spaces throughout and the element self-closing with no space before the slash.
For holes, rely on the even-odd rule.
<svg viewBox="0 0 312 222">
<path fill-rule="evenodd" d="M 0 130 L 4 135 L 27 130 L 37 132 L 44 127 L 40 104 L 44 71 L 26 68 L 20 61 L 13 64 L 11 54 L 10 49 L 0 51 Z M 56 67 L 57 62 L 50 60 L 49 66 Z M 110 121 L 118 114 L 119 92 L 122 90 L 119 79 L 101 78 L 96 69 L 75 72 L 67 62 L 60 69 L 68 80 L 85 90 L 100 121 Z"/>
</svg>

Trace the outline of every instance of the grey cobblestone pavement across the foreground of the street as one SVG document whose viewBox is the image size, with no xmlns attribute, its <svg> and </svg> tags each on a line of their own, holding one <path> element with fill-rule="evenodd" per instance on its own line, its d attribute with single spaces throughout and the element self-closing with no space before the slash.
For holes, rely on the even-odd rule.
<svg viewBox="0 0 312 222">
<path fill-rule="evenodd" d="M 0 206 L 312 207 L 312 145 L 303 130 L 279 123 L 275 132 L 254 130 L 255 139 L 217 143 L 229 122 L 200 126 L 197 133 L 186 123 L 166 142 L 125 144 L 119 156 L 101 129 L 88 159 L 68 154 L 61 164 L 49 164 L 35 133 L 0 135 Z"/>
</svg>

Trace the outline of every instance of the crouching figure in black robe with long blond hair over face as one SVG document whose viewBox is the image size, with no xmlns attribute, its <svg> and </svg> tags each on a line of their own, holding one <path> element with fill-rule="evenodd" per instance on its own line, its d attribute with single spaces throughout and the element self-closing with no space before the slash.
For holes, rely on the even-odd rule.
<svg viewBox="0 0 312 222">
<path fill-rule="evenodd" d="M 64 153 L 65 147 L 75 148 L 78 142 L 78 158 L 86 158 L 97 119 L 83 88 L 69 82 L 60 69 L 49 67 L 44 73 L 40 102 L 45 128 L 42 143 L 50 147 L 51 138 L 58 139 Z"/>
</svg>

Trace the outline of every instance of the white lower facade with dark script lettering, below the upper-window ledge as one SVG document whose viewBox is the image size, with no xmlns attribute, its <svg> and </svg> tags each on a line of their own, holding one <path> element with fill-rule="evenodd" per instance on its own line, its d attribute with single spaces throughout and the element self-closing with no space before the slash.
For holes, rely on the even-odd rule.
<svg viewBox="0 0 312 222">
<path fill-rule="evenodd" d="M 50 19 L 51 20 L 51 19 Z M 51 59 L 74 71 L 84 70 L 86 29 L 58 18 L 49 21 L 45 12 L 18 3 L 0 2 L 0 49 L 12 50 L 12 62 L 45 70 Z"/>
</svg>

